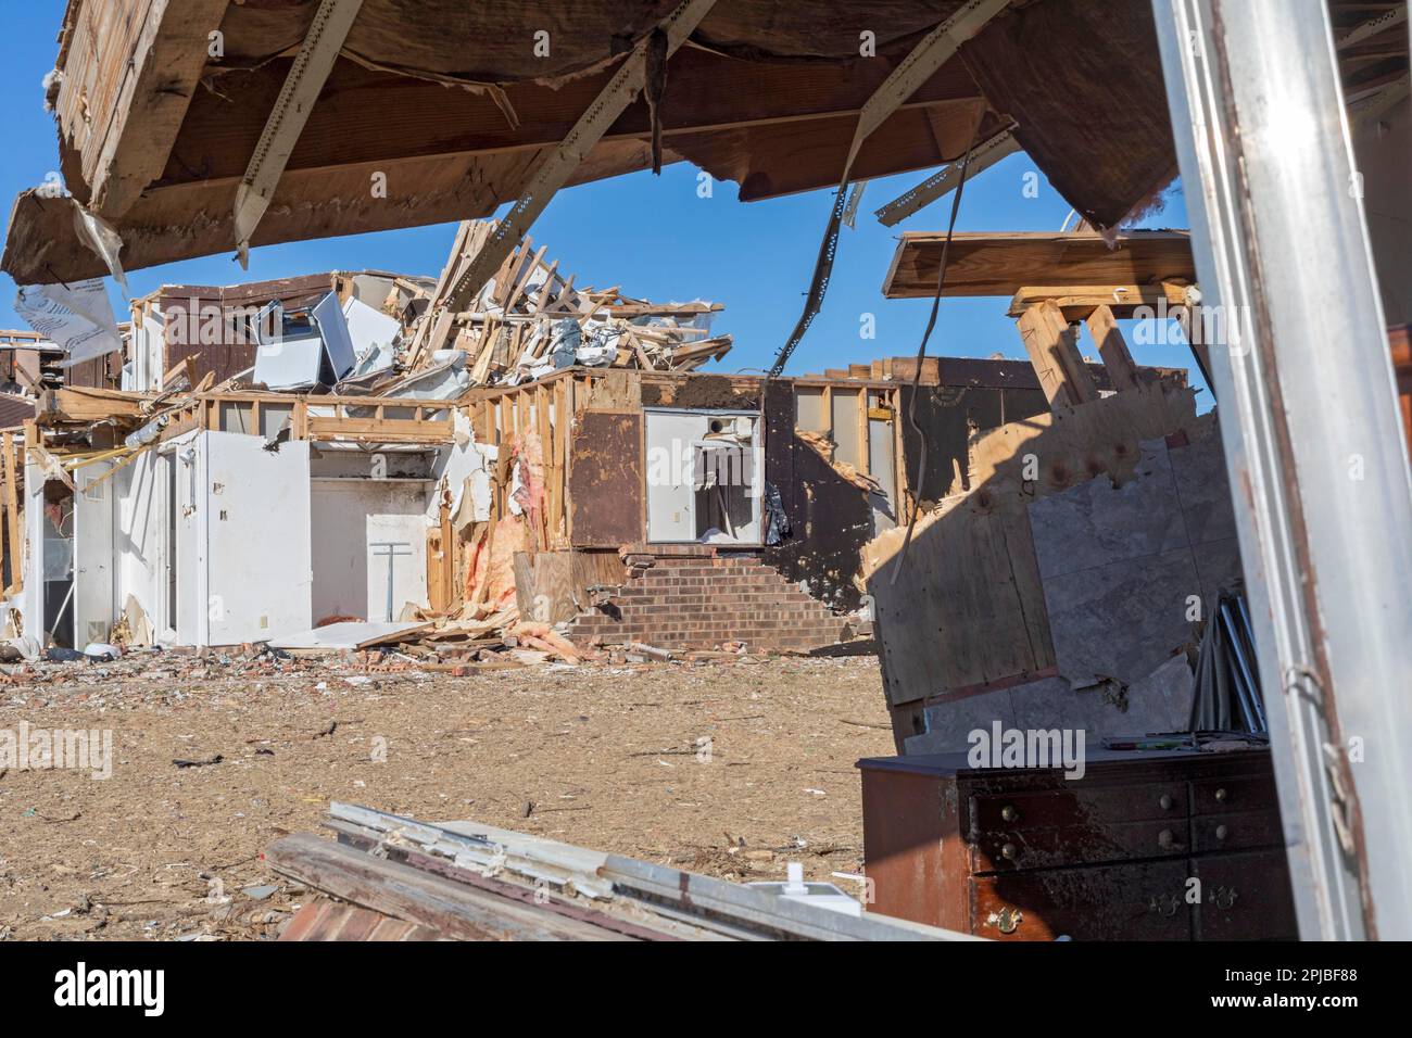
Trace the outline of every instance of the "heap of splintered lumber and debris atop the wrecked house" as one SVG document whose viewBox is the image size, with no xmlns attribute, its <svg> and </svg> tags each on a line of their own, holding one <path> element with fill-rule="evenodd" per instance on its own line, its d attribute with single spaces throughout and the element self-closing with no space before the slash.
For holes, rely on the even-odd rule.
<svg viewBox="0 0 1412 1038">
<path fill-rule="evenodd" d="M 575 285 L 528 237 L 457 305 L 449 287 L 493 227 L 462 223 L 441 278 L 330 271 L 164 285 L 133 302 L 121 381 L 68 381 L 140 393 L 453 400 L 473 386 L 514 386 L 576 366 L 690 371 L 730 350 L 729 335 L 712 335 L 720 304 L 654 304 L 617 285 Z"/>
</svg>

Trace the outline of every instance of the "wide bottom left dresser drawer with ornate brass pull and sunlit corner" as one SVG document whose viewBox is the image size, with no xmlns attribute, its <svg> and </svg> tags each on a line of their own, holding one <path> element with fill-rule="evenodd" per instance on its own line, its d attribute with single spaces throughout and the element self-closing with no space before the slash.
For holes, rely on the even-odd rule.
<svg viewBox="0 0 1412 1038">
<path fill-rule="evenodd" d="M 997 941 L 1190 941 L 1187 861 L 970 880 L 970 932 Z"/>
</svg>

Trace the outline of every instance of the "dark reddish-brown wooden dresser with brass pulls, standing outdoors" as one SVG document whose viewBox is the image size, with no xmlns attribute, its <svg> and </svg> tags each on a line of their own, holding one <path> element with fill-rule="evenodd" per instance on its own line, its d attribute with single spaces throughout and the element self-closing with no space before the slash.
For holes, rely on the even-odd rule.
<svg viewBox="0 0 1412 1038">
<path fill-rule="evenodd" d="M 858 767 L 873 911 L 1004 941 L 1298 936 L 1268 751 Z"/>
</svg>

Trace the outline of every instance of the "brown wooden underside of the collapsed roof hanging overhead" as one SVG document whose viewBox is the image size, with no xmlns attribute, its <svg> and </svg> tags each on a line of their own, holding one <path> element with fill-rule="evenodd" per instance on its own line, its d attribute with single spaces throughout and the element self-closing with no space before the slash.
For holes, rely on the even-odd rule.
<svg viewBox="0 0 1412 1038">
<path fill-rule="evenodd" d="M 570 14 L 537 3 L 435 0 L 412 17 L 394 0 L 364 0 L 326 80 L 312 83 L 322 88 L 318 102 L 289 141 L 251 243 L 489 215 L 524 192 L 627 62 L 624 52 L 674 7 L 592 0 Z M 662 161 L 685 158 L 733 179 L 746 201 L 836 184 L 864 105 L 919 40 L 964 6 L 707 7 L 669 75 L 642 92 L 655 103 L 634 92 L 568 184 L 650 167 L 654 129 Z M 908 90 L 867 136 L 853 178 L 950 161 L 977 131 L 1019 120 L 1021 141 L 1069 201 L 1096 225 L 1115 223 L 1172 167 L 1147 4 L 1106 7 L 1101 31 L 1076 0 L 995 7 L 959 58 Z M 319 10 L 313 0 L 71 0 L 54 97 L 62 169 L 75 199 L 121 236 L 127 268 L 236 246 L 237 188 Z M 1062 68 L 1028 56 L 1036 37 L 1042 49 L 1066 55 Z M 1001 80 L 1017 48 L 1046 69 L 1042 78 Z M 1084 72 L 1091 69 L 1103 75 Z M 1125 86 L 1118 102 L 1108 97 L 1114 82 Z M 1055 113 L 1046 99 L 1058 96 L 1066 107 Z M 1099 117 L 1114 110 L 1121 120 Z M 1027 127 L 1032 116 L 1059 126 L 1038 136 Z M 1125 134 L 1130 126 L 1142 133 Z M 1091 177 L 1110 167 L 1131 172 Z M 385 191 L 370 189 L 374 181 Z M 23 284 L 107 273 L 73 232 L 73 203 L 54 193 L 27 192 L 16 203 L 4 270 Z"/>
</svg>

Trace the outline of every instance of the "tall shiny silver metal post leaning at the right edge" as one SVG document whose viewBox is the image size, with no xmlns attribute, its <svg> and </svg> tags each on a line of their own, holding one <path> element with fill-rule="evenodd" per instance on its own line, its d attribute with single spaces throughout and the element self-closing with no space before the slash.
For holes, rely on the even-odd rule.
<svg viewBox="0 0 1412 1038">
<path fill-rule="evenodd" d="M 1238 329 L 1211 373 L 1300 935 L 1405 939 L 1412 480 L 1329 10 L 1154 11 L 1203 305 Z"/>
</svg>

